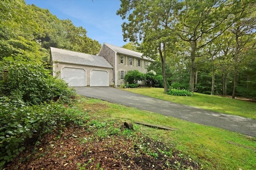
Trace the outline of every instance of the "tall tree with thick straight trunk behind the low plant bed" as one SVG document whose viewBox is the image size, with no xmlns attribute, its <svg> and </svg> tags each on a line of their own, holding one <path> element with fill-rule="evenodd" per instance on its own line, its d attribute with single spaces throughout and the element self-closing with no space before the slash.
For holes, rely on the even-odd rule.
<svg viewBox="0 0 256 170">
<path fill-rule="evenodd" d="M 185 0 L 175 25 L 181 40 L 190 44 L 190 90 L 194 90 L 197 52 L 224 33 L 232 25 L 235 0 Z M 242 2 L 241 2 L 242 3 Z M 232 19 L 231 19 L 232 18 Z M 211 35 L 209 37 L 209 35 Z"/>
</svg>

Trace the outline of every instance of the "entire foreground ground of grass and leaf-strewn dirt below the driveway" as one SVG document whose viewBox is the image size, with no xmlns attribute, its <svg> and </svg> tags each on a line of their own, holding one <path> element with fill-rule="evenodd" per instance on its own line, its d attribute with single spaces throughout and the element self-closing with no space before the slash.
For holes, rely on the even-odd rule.
<svg viewBox="0 0 256 170">
<path fill-rule="evenodd" d="M 82 125 L 53 130 L 36 145 L 27 145 L 26 152 L 6 168 L 256 168 L 254 137 L 85 97 L 77 97 L 76 102 L 68 107 L 76 110 L 72 111 L 73 117 L 84 115 L 80 118 L 84 120 Z M 127 120 L 143 120 L 177 130 L 166 131 L 136 124 L 131 130 L 124 127 Z"/>
</svg>

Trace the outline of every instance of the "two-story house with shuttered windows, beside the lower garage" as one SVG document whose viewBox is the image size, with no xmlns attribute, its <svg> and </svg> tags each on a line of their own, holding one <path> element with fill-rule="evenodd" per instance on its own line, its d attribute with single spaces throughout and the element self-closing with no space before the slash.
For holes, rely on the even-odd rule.
<svg viewBox="0 0 256 170">
<path fill-rule="evenodd" d="M 124 76 L 129 70 L 138 70 L 142 73 L 147 72 L 147 66 L 152 62 L 152 59 L 142 57 L 142 53 L 117 47 L 108 43 L 104 43 L 100 49 L 99 56 L 104 57 L 108 63 L 113 66 L 112 84 L 118 87 L 121 84 L 126 84 Z M 145 84 L 144 81 L 138 84 Z"/>
</svg>

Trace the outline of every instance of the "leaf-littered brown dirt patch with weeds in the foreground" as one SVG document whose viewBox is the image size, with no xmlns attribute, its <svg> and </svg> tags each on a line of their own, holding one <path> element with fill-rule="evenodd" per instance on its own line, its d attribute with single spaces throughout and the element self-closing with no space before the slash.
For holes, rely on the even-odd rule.
<svg viewBox="0 0 256 170">
<path fill-rule="evenodd" d="M 97 104 L 98 105 L 98 104 Z M 64 128 L 45 135 L 39 145 L 11 162 L 6 170 L 163 170 L 200 169 L 192 161 L 161 141 L 126 129 L 119 122 Z"/>
</svg>

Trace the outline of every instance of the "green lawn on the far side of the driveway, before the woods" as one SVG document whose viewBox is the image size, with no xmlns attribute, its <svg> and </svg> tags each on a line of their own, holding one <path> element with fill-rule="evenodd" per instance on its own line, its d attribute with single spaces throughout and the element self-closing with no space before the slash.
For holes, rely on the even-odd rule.
<svg viewBox="0 0 256 170">
<path fill-rule="evenodd" d="M 194 93 L 192 97 L 171 96 L 164 94 L 163 88 L 127 88 L 123 90 L 205 110 L 256 119 L 256 103 L 253 102 L 200 93 Z"/>
</svg>

